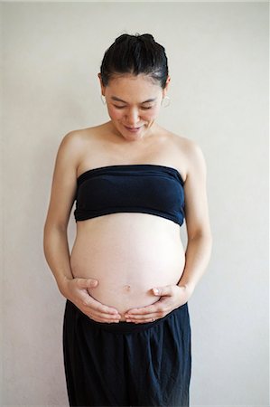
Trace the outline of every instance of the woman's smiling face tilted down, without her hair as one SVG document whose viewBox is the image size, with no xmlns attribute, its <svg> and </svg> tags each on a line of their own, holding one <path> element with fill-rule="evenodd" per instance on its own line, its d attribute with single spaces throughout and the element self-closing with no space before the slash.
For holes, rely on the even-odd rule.
<svg viewBox="0 0 270 407">
<path fill-rule="evenodd" d="M 154 82 L 144 74 L 129 74 L 111 79 L 104 87 L 100 74 L 98 77 L 102 94 L 107 100 L 108 115 L 116 132 L 129 140 L 150 135 L 167 86 L 163 90 L 158 81 Z"/>
</svg>

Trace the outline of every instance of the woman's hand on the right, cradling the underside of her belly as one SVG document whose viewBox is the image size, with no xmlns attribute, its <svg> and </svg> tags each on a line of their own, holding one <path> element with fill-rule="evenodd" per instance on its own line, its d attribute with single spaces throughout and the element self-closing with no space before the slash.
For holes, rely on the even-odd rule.
<svg viewBox="0 0 270 407">
<path fill-rule="evenodd" d="M 126 322 L 142 324 L 154 322 L 163 318 L 173 309 L 181 307 L 191 298 L 192 289 L 187 286 L 170 285 L 152 289 L 155 296 L 160 297 L 158 301 L 150 306 L 129 309 L 126 314 Z"/>
</svg>

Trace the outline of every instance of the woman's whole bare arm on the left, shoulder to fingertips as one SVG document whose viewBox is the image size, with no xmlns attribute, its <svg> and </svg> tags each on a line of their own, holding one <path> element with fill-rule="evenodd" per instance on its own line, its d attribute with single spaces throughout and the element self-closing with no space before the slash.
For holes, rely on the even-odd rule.
<svg viewBox="0 0 270 407">
<path fill-rule="evenodd" d="M 66 135 L 56 157 L 51 200 L 43 230 L 43 249 L 48 265 L 61 294 L 83 313 L 100 322 L 117 322 L 115 308 L 107 307 L 90 297 L 88 288 L 96 287 L 94 279 L 74 279 L 70 267 L 67 227 L 77 187 L 77 167 L 82 140 L 75 132 Z"/>
</svg>

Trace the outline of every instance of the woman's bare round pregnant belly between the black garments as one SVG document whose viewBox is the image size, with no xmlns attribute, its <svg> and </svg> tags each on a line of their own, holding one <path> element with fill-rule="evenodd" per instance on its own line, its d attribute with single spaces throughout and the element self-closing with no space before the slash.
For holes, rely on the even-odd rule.
<svg viewBox="0 0 270 407">
<path fill-rule="evenodd" d="M 177 284 L 185 254 L 179 225 L 148 213 L 110 213 L 77 222 L 70 253 L 75 278 L 98 279 L 91 297 L 125 320 L 131 308 L 153 304 L 154 287 Z"/>
</svg>

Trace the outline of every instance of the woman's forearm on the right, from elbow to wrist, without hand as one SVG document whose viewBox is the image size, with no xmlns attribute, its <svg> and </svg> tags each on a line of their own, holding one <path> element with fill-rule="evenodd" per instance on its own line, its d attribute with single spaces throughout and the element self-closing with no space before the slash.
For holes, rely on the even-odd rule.
<svg viewBox="0 0 270 407">
<path fill-rule="evenodd" d="M 193 291 L 209 264 L 212 249 L 212 238 L 209 235 L 198 235 L 188 241 L 185 267 L 179 286 L 187 286 Z"/>
</svg>

